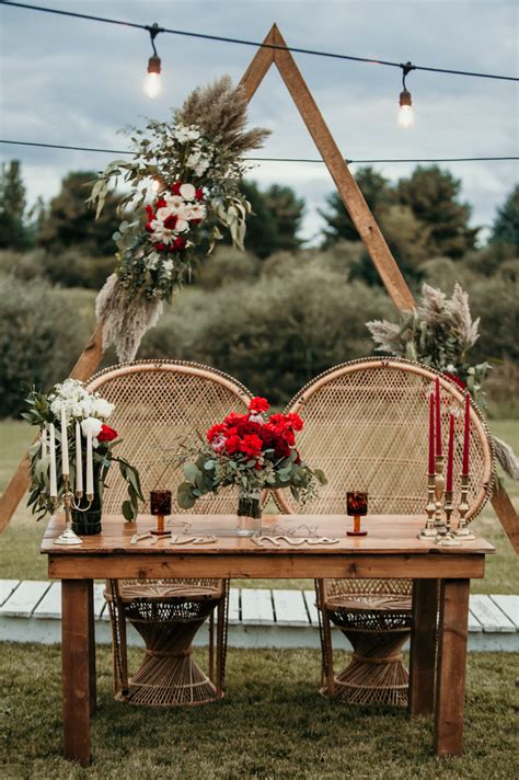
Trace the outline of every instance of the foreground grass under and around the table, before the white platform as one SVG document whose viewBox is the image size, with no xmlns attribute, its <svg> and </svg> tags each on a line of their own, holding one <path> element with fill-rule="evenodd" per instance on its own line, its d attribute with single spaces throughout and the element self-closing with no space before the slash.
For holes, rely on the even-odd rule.
<svg viewBox="0 0 519 780">
<path fill-rule="evenodd" d="M 337 653 L 337 663 L 345 662 Z M 95 760 L 82 769 L 61 758 L 59 647 L 0 649 L 3 780 L 505 780 L 519 773 L 510 654 L 470 656 L 464 755 L 441 761 L 432 756 L 429 718 L 321 698 L 316 651 L 231 650 L 226 698 L 181 710 L 115 702 L 107 649 L 99 649 L 97 665 Z"/>
</svg>

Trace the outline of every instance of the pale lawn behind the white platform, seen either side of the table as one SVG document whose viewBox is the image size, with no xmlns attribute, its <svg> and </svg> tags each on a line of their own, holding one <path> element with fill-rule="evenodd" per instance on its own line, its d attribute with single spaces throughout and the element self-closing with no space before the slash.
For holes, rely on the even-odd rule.
<svg viewBox="0 0 519 780">
<path fill-rule="evenodd" d="M 519 421 L 492 422 L 496 436 L 505 438 L 519 451 Z M 0 422 L 0 489 L 9 482 L 20 458 L 31 443 L 32 428 L 19 421 Z M 512 501 L 519 501 L 519 483 L 505 481 Z M 487 558 L 484 580 L 472 581 L 472 593 L 518 593 L 517 558 L 491 505 L 474 520 L 475 530 L 496 547 L 496 554 Z M 36 523 L 31 513 L 19 506 L 9 527 L 1 537 L 0 571 L 4 578 L 46 580 L 47 559 L 38 552 L 45 521 Z M 241 587 L 312 587 L 310 581 L 273 580 L 238 581 Z"/>
</svg>

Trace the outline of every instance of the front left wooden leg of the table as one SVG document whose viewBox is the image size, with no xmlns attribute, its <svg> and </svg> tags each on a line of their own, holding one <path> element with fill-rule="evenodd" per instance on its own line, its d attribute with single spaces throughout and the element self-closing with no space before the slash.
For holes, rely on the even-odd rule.
<svg viewBox="0 0 519 780">
<path fill-rule="evenodd" d="M 92 581 L 64 580 L 61 584 L 61 675 L 65 757 L 85 767 L 90 755 Z"/>
</svg>

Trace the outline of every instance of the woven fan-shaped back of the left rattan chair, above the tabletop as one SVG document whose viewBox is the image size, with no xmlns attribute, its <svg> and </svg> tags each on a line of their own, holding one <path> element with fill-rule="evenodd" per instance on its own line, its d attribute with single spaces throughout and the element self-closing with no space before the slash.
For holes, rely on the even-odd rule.
<svg viewBox="0 0 519 780">
<path fill-rule="evenodd" d="M 106 368 L 94 375 L 89 390 L 97 391 L 115 403 L 109 424 L 122 439 L 116 454 L 139 470 L 145 502 L 139 512 L 149 514 L 149 492 L 171 490 L 175 514 L 176 489 L 184 481 L 172 456 L 196 432 L 208 427 L 230 412 L 246 411 L 251 393 L 221 371 L 194 363 L 141 360 Z M 119 514 L 127 497 L 127 485 L 114 463 L 103 496 L 106 514 Z M 215 496 L 199 498 L 196 512 L 227 514 L 237 508 L 237 495 L 227 489 Z"/>
</svg>

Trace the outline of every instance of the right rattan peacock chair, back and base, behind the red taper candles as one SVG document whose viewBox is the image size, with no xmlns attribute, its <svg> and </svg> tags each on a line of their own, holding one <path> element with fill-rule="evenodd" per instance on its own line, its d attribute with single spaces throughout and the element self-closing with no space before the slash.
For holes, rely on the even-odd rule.
<svg viewBox="0 0 519 780">
<path fill-rule="evenodd" d="M 289 403 L 304 429 L 302 457 L 328 478 L 308 505 L 315 514 L 345 513 L 347 490 L 368 490 L 373 515 L 423 515 L 425 520 L 428 394 L 440 376 L 443 431 L 449 410 L 461 411 L 463 394 L 449 379 L 416 363 L 366 358 L 330 369 Z M 461 471 L 459 441 L 454 473 Z M 472 519 L 489 497 L 493 450 L 478 410 L 471 412 Z M 295 512 L 287 492 L 277 493 L 284 512 Z M 454 491 L 454 506 L 459 503 Z M 455 515 L 454 515 L 455 523 Z M 364 524 L 369 532 L 369 516 Z M 346 517 L 345 517 L 346 527 Z M 402 647 L 411 631 L 412 581 L 318 580 L 322 646 L 322 693 L 346 703 L 407 702 Z M 350 641 L 349 665 L 334 675 L 330 621 Z"/>
</svg>

